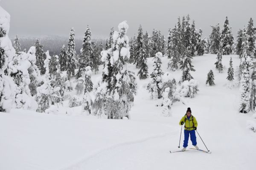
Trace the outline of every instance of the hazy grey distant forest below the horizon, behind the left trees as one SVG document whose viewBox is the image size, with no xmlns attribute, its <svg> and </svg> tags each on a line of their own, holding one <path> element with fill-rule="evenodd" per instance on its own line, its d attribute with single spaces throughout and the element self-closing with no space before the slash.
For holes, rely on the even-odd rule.
<svg viewBox="0 0 256 170">
<path fill-rule="evenodd" d="M 19 36 L 18 36 L 19 37 Z M 15 37 L 11 37 L 12 43 Z M 49 51 L 50 56 L 59 55 L 61 51 L 62 45 L 67 47 L 68 37 L 60 37 L 60 36 L 46 36 L 46 37 L 19 37 L 21 44 L 21 51 L 29 50 L 31 46 L 33 46 L 37 39 L 40 40 L 43 45 L 43 49 L 46 52 Z M 82 39 L 75 39 L 76 43 L 76 54 L 80 54 L 80 49 L 82 47 Z M 97 46 L 100 42 L 103 43 L 103 47 L 105 48 L 106 40 L 102 38 L 92 38 L 92 42 L 96 42 Z"/>
</svg>

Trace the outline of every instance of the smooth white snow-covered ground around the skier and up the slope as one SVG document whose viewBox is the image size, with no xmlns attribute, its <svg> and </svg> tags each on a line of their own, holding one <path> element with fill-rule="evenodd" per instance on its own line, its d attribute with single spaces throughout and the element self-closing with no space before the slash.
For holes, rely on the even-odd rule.
<svg viewBox="0 0 256 170">
<path fill-rule="evenodd" d="M 153 58 L 148 58 L 149 73 Z M 239 58 L 232 56 L 233 67 Z M 0 113 L 0 170 L 253 170 L 256 133 L 246 128 L 256 122 L 253 113 L 239 112 L 239 88 L 226 87 L 230 56 L 223 56 L 224 73 L 215 70 L 216 55 L 194 57 L 199 92 L 185 104 L 175 102 L 172 116 L 164 117 L 158 101 L 150 99 L 146 85 L 138 80 L 131 119 L 97 119 L 81 114 L 51 115 L 21 109 Z M 166 72 L 168 59 L 162 58 Z M 134 65 L 130 70 L 137 69 Z M 205 85 L 212 69 L 215 86 Z M 92 80 L 102 74 L 93 74 Z M 176 79 L 181 71 L 171 73 Z M 190 107 L 198 121 L 198 133 L 212 154 L 179 150 L 178 122 Z M 79 112 L 79 108 L 75 110 Z M 206 150 L 197 135 L 198 147 Z M 183 133 L 180 146 L 183 144 Z M 189 147 L 192 147 L 189 141 Z"/>
</svg>

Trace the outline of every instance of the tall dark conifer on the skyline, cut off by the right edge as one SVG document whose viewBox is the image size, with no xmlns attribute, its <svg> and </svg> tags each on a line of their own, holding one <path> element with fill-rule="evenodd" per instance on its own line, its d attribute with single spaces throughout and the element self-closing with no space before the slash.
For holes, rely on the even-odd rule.
<svg viewBox="0 0 256 170">
<path fill-rule="evenodd" d="M 256 58 L 256 28 L 253 26 L 253 19 L 250 18 L 246 34 L 248 36 L 248 49 L 247 49 L 247 56 L 251 58 Z"/>
</svg>

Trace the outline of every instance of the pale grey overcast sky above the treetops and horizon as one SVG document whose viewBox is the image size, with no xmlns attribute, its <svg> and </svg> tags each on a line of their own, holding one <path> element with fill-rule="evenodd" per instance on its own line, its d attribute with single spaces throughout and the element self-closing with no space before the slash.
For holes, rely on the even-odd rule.
<svg viewBox="0 0 256 170">
<path fill-rule="evenodd" d="M 68 36 L 74 27 L 76 37 L 83 37 L 89 25 L 93 37 L 108 37 L 123 20 L 130 37 L 140 24 L 144 32 L 157 28 L 167 35 L 177 17 L 187 14 L 203 36 L 209 36 L 210 25 L 222 28 L 226 16 L 235 36 L 250 17 L 256 25 L 256 0 L 1 0 L 0 6 L 11 15 L 10 36 Z"/>
</svg>

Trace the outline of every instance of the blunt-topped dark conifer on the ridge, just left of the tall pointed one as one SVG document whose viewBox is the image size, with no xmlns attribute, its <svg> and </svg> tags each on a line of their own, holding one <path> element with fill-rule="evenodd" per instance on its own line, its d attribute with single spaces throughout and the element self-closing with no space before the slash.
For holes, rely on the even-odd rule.
<svg viewBox="0 0 256 170">
<path fill-rule="evenodd" d="M 220 48 L 220 43 L 221 43 L 221 34 L 220 34 L 220 26 L 219 23 L 216 26 L 211 26 L 212 27 L 212 33 L 209 37 L 210 40 L 210 53 L 211 54 L 217 54 L 219 48 Z"/>
</svg>

